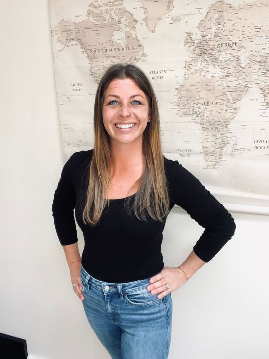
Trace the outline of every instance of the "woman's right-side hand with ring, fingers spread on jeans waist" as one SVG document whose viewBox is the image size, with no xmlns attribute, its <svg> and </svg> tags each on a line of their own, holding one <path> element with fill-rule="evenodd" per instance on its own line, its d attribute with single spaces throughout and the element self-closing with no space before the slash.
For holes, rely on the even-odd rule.
<svg viewBox="0 0 269 359">
<path fill-rule="evenodd" d="M 164 266 L 160 273 L 150 278 L 150 284 L 147 286 L 147 290 L 150 291 L 151 294 L 160 293 L 157 298 L 161 299 L 180 288 L 187 280 L 188 278 L 181 268 Z M 168 284 L 168 289 L 166 288 L 166 283 Z"/>
</svg>

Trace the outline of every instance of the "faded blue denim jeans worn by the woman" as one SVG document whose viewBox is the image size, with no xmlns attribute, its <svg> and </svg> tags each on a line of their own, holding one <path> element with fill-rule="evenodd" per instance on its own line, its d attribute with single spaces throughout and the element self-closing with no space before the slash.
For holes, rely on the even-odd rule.
<svg viewBox="0 0 269 359">
<path fill-rule="evenodd" d="M 83 307 L 112 359 L 167 359 L 171 341 L 171 294 L 158 299 L 149 279 L 108 283 L 81 267 Z"/>
</svg>

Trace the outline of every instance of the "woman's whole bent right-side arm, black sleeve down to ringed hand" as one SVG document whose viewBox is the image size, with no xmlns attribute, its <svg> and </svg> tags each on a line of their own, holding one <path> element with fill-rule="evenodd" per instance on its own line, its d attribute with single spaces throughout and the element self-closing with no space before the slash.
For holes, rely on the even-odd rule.
<svg viewBox="0 0 269 359">
<path fill-rule="evenodd" d="M 162 298 L 180 288 L 199 268 L 209 262 L 231 239 L 235 223 L 231 214 L 178 161 L 166 160 L 172 204 L 177 204 L 205 228 L 188 258 L 178 267 L 164 267 L 150 278 L 151 294 Z M 169 288 L 167 289 L 166 283 Z"/>
</svg>

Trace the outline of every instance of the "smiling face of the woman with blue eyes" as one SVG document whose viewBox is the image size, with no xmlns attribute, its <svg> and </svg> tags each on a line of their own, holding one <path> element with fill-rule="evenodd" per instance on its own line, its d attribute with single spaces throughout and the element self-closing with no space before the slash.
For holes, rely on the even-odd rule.
<svg viewBox="0 0 269 359">
<path fill-rule="evenodd" d="M 140 143 L 150 120 L 145 93 L 133 79 L 114 79 L 105 91 L 102 108 L 103 123 L 110 144 Z"/>
</svg>

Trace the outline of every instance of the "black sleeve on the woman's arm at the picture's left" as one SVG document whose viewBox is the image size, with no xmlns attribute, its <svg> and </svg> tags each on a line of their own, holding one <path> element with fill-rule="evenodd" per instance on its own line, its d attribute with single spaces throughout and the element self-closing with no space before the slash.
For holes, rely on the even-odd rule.
<svg viewBox="0 0 269 359">
<path fill-rule="evenodd" d="M 68 159 L 62 169 L 52 203 L 54 225 L 61 245 L 73 244 L 78 241 L 74 219 L 74 208 L 76 204 L 76 192 L 72 171 L 74 155 L 75 153 Z"/>
</svg>

